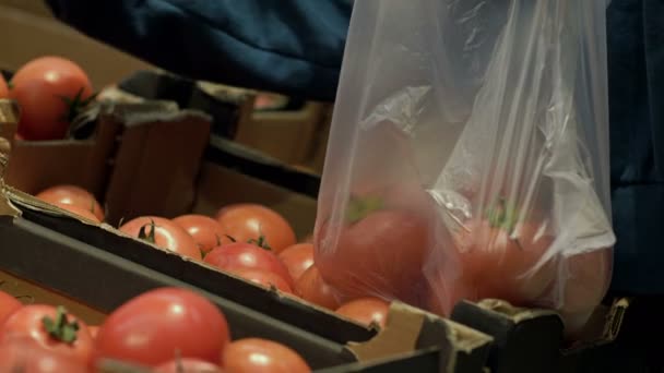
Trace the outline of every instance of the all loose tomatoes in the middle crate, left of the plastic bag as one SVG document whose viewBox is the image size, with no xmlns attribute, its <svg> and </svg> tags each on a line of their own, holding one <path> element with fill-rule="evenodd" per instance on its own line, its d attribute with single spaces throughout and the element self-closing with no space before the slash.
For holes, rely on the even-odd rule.
<svg viewBox="0 0 664 373">
<path fill-rule="evenodd" d="M 104 209 L 90 192 L 57 185 L 37 198 L 95 222 Z M 299 297 L 364 325 L 384 326 L 389 303 L 374 297 L 341 298 L 315 264 L 313 244 L 298 242 L 288 221 L 259 204 L 235 204 L 216 216 L 183 215 L 174 219 L 141 216 L 120 224 L 124 234 L 178 253 L 284 294 Z"/>
</svg>

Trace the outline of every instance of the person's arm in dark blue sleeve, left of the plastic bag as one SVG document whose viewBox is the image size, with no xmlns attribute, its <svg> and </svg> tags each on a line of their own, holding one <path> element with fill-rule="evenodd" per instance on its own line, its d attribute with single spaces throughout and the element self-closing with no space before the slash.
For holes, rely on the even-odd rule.
<svg viewBox="0 0 664 373">
<path fill-rule="evenodd" d="M 192 79 L 333 100 L 348 0 L 46 0 L 59 20 Z"/>
</svg>

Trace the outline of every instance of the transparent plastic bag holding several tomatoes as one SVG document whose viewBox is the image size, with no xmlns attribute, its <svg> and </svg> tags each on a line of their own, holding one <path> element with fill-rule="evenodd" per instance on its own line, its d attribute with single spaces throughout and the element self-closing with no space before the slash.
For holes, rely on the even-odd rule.
<svg viewBox="0 0 664 373">
<path fill-rule="evenodd" d="M 584 325 L 615 242 L 606 5 L 355 3 L 315 233 L 342 299 L 499 298 Z"/>
</svg>

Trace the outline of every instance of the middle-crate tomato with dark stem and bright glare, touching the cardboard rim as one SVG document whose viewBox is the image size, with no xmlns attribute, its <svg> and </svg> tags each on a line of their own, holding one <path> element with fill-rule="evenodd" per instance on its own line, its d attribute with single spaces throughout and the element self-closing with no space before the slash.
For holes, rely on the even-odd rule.
<svg viewBox="0 0 664 373">
<path fill-rule="evenodd" d="M 183 256 L 194 260 L 202 258 L 199 245 L 193 238 L 168 219 L 157 216 L 141 216 L 123 224 L 120 231 Z"/>
</svg>

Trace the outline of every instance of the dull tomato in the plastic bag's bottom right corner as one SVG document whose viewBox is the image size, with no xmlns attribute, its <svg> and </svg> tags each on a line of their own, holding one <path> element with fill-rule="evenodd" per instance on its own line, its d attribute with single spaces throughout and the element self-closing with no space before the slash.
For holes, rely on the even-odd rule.
<svg viewBox="0 0 664 373">
<path fill-rule="evenodd" d="M 565 332 L 573 336 L 583 329 L 595 306 L 602 302 L 610 281 L 612 251 L 596 250 L 566 257 L 561 308 Z"/>
</svg>

